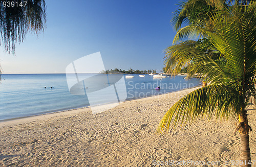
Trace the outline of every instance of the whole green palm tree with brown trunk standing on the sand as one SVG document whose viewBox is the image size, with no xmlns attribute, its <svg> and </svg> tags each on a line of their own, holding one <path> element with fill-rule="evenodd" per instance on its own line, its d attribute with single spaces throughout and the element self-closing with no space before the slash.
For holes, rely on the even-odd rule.
<svg viewBox="0 0 256 167">
<path fill-rule="evenodd" d="M 176 102 L 159 123 L 158 132 L 192 122 L 198 117 L 236 118 L 241 135 L 241 166 L 250 165 L 249 130 L 246 106 L 256 96 L 256 3 L 234 4 L 213 12 L 211 27 L 187 26 L 178 31 L 180 37 L 207 37 L 222 54 L 224 65 L 195 47 L 196 41 L 186 40 L 166 49 L 165 65 L 177 73 L 188 64 L 190 73 L 202 73 L 209 83 L 188 93 Z"/>
</svg>

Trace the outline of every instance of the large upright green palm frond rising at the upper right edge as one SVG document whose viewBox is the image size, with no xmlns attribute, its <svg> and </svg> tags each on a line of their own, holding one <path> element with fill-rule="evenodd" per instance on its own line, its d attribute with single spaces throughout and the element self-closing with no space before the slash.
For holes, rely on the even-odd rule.
<svg viewBox="0 0 256 167">
<path fill-rule="evenodd" d="M 229 15 L 221 12 L 216 14 L 213 17 L 215 32 L 204 33 L 225 55 L 234 76 L 243 77 L 245 73 L 250 73 L 252 77 L 256 65 L 256 16 L 252 14 L 256 12 L 255 5 L 241 10 L 237 8 Z"/>
</svg>

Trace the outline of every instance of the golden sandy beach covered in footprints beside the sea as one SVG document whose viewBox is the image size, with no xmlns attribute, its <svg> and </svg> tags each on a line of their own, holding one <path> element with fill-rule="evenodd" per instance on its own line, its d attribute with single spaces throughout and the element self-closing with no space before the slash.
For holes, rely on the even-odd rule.
<svg viewBox="0 0 256 167">
<path fill-rule="evenodd" d="M 83 108 L 1 122 L 0 166 L 237 166 L 231 161 L 240 152 L 234 120 L 200 118 L 156 133 L 165 112 L 195 89 L 126 101 L 94 115 Z M 255 130 L 253 108 L 248 117 Z M 254 132 L 250 149 L 255 160 Z"/>
</svg>

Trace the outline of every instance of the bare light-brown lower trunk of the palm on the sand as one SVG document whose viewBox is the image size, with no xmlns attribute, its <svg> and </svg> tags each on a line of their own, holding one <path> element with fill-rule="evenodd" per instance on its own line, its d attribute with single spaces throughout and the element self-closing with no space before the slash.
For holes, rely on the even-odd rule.
<svg viewBox="0 0 256 167">
<path fill-rule="evenodd" d="M 251 166 L 251 154 L 249 147 L 249 135 L 241 133 L 241 147 L 240 147 L 240 162 L 243 161 L 243 164 L 240 166 Z"/>
</svg>

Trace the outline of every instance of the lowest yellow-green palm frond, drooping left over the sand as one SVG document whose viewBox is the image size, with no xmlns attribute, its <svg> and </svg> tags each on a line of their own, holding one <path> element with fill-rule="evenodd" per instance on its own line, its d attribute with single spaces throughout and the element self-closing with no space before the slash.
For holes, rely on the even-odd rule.
<svg viewBox="0 0 256 167">
<path fill-rule="evenodd" d="M 238 114 L 239 93 L 229 86 L 209 85 L 193 92 L 176 102 L 162 118 L 157 131 L 167 130 L 173 122 L 176 126 L 192 122 L 198 117 L 235 117 Z"/>
</svg>

